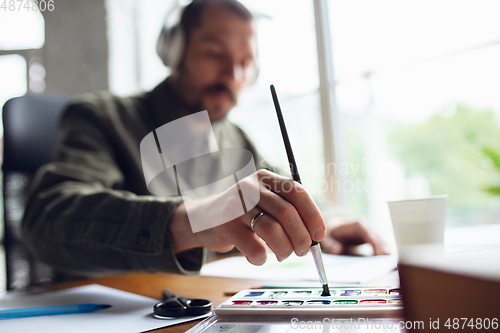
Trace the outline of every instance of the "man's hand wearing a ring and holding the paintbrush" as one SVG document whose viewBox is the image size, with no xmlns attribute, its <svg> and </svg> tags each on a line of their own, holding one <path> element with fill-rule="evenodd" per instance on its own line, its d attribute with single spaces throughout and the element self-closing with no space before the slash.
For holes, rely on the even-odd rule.
<svg viewBox="0 0 500 333">
<path fill-rule="evenodd" d="M 319 242 L 325 238 L 326 225 L 323 217 L 301 184 L 267 170 L 259 170 L 256 175 L 258 182 L 247 180 L 252 177 L 249 176 L 238 185 L 243 192 L 249 191 L 251 187 L 254 190 L 258 187 L 260 200 L 257 206 L 217 227 L 193 233 L 186 208 L 184 204 L 179 205 L 170 225 L 174 252 L 194 247 L 227 252 L 236 247 L 249 262 L 262 265 L 267 259 L 263 241 L 276 254 L 278 260 L 282 261 L 292 252 L 298 256 L 306 255 L 312 240 Z M 208 204 L 207 199 L 200 200 L 198 207 L 204 212 L 207 207 L 214 205 L 221 211 L 241 205 L 240 202 L 228 202 L 221 198 L 224 198 L 224 194 L 208 199 Z M 196 208 L 196 203 L 190 204 L 190 207 Z M 250 221 L 259 212 L 265 214 L 259 218 L 252 230 Z M 207 219 L 210 219 L 210 216 L 207 216 Z"/>
</svg>

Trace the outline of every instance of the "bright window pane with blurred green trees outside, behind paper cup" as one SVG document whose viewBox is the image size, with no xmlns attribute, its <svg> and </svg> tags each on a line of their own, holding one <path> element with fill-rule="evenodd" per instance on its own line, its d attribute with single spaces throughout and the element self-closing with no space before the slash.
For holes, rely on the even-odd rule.
<svg viewBox="0 0 500 333">
<path fill-rule="evenodd" d="M 350 208 L 390 228 L 386 200 L 448 194 L 448 226 L 498 223 L 499 3 L 328 4 Z"/>
</svg>

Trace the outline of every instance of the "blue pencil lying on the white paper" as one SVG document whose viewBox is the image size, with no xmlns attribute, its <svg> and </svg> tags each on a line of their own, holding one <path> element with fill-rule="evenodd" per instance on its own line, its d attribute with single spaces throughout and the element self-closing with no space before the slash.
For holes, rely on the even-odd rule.
<svg viewBox="0 0 500 333">
<path fill-rule="evenodd" d="M 111 305 L 106 304 L 75 304 L 75 305 L 60 305 L 60 306 L 42 306 L 38 308 L 23 308 L 0 310 L 1 319 L 13 319 L 36 316 L 54 316 L 60 314 L 72 313 L 89 313 L 102 309 L 110 308 Z"/>
</svg>

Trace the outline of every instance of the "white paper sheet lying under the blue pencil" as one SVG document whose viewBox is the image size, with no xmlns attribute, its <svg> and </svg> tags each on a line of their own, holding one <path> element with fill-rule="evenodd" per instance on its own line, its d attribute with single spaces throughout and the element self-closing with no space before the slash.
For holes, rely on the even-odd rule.
<svg viewBox="0 0 500 333">
<path fill-rule="evenodd" d="M 143 332 L 207 316 L 156 319 L 153 306 L 158 300 L 96 284 L 37 295 L 7 294 L 0 300 L 0 309 L 85 303 L 112 307 L 93 313 L 0 320 L 0 332 Z"/>
</svg>

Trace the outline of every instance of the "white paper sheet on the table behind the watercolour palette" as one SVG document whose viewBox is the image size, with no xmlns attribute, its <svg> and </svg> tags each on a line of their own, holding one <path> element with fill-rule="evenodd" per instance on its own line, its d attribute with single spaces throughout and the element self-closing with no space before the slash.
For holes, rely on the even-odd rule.
<svg viewBox="0 0 500 333">
<path fill-rule="evenodd" d="M 397 266 L 397 256 L 354 257 L 323 254 L 329 283 L 366 283 L 385 276 Z M 262 266 L 250 264 L 245 257 L 231 257 L 206 264 L 201 275 L 231 278 L 317 281 L 318 273 L 309 253 L 305 257 L 290 256 L 283 262 L 268 255 Z"/>
</svg>

